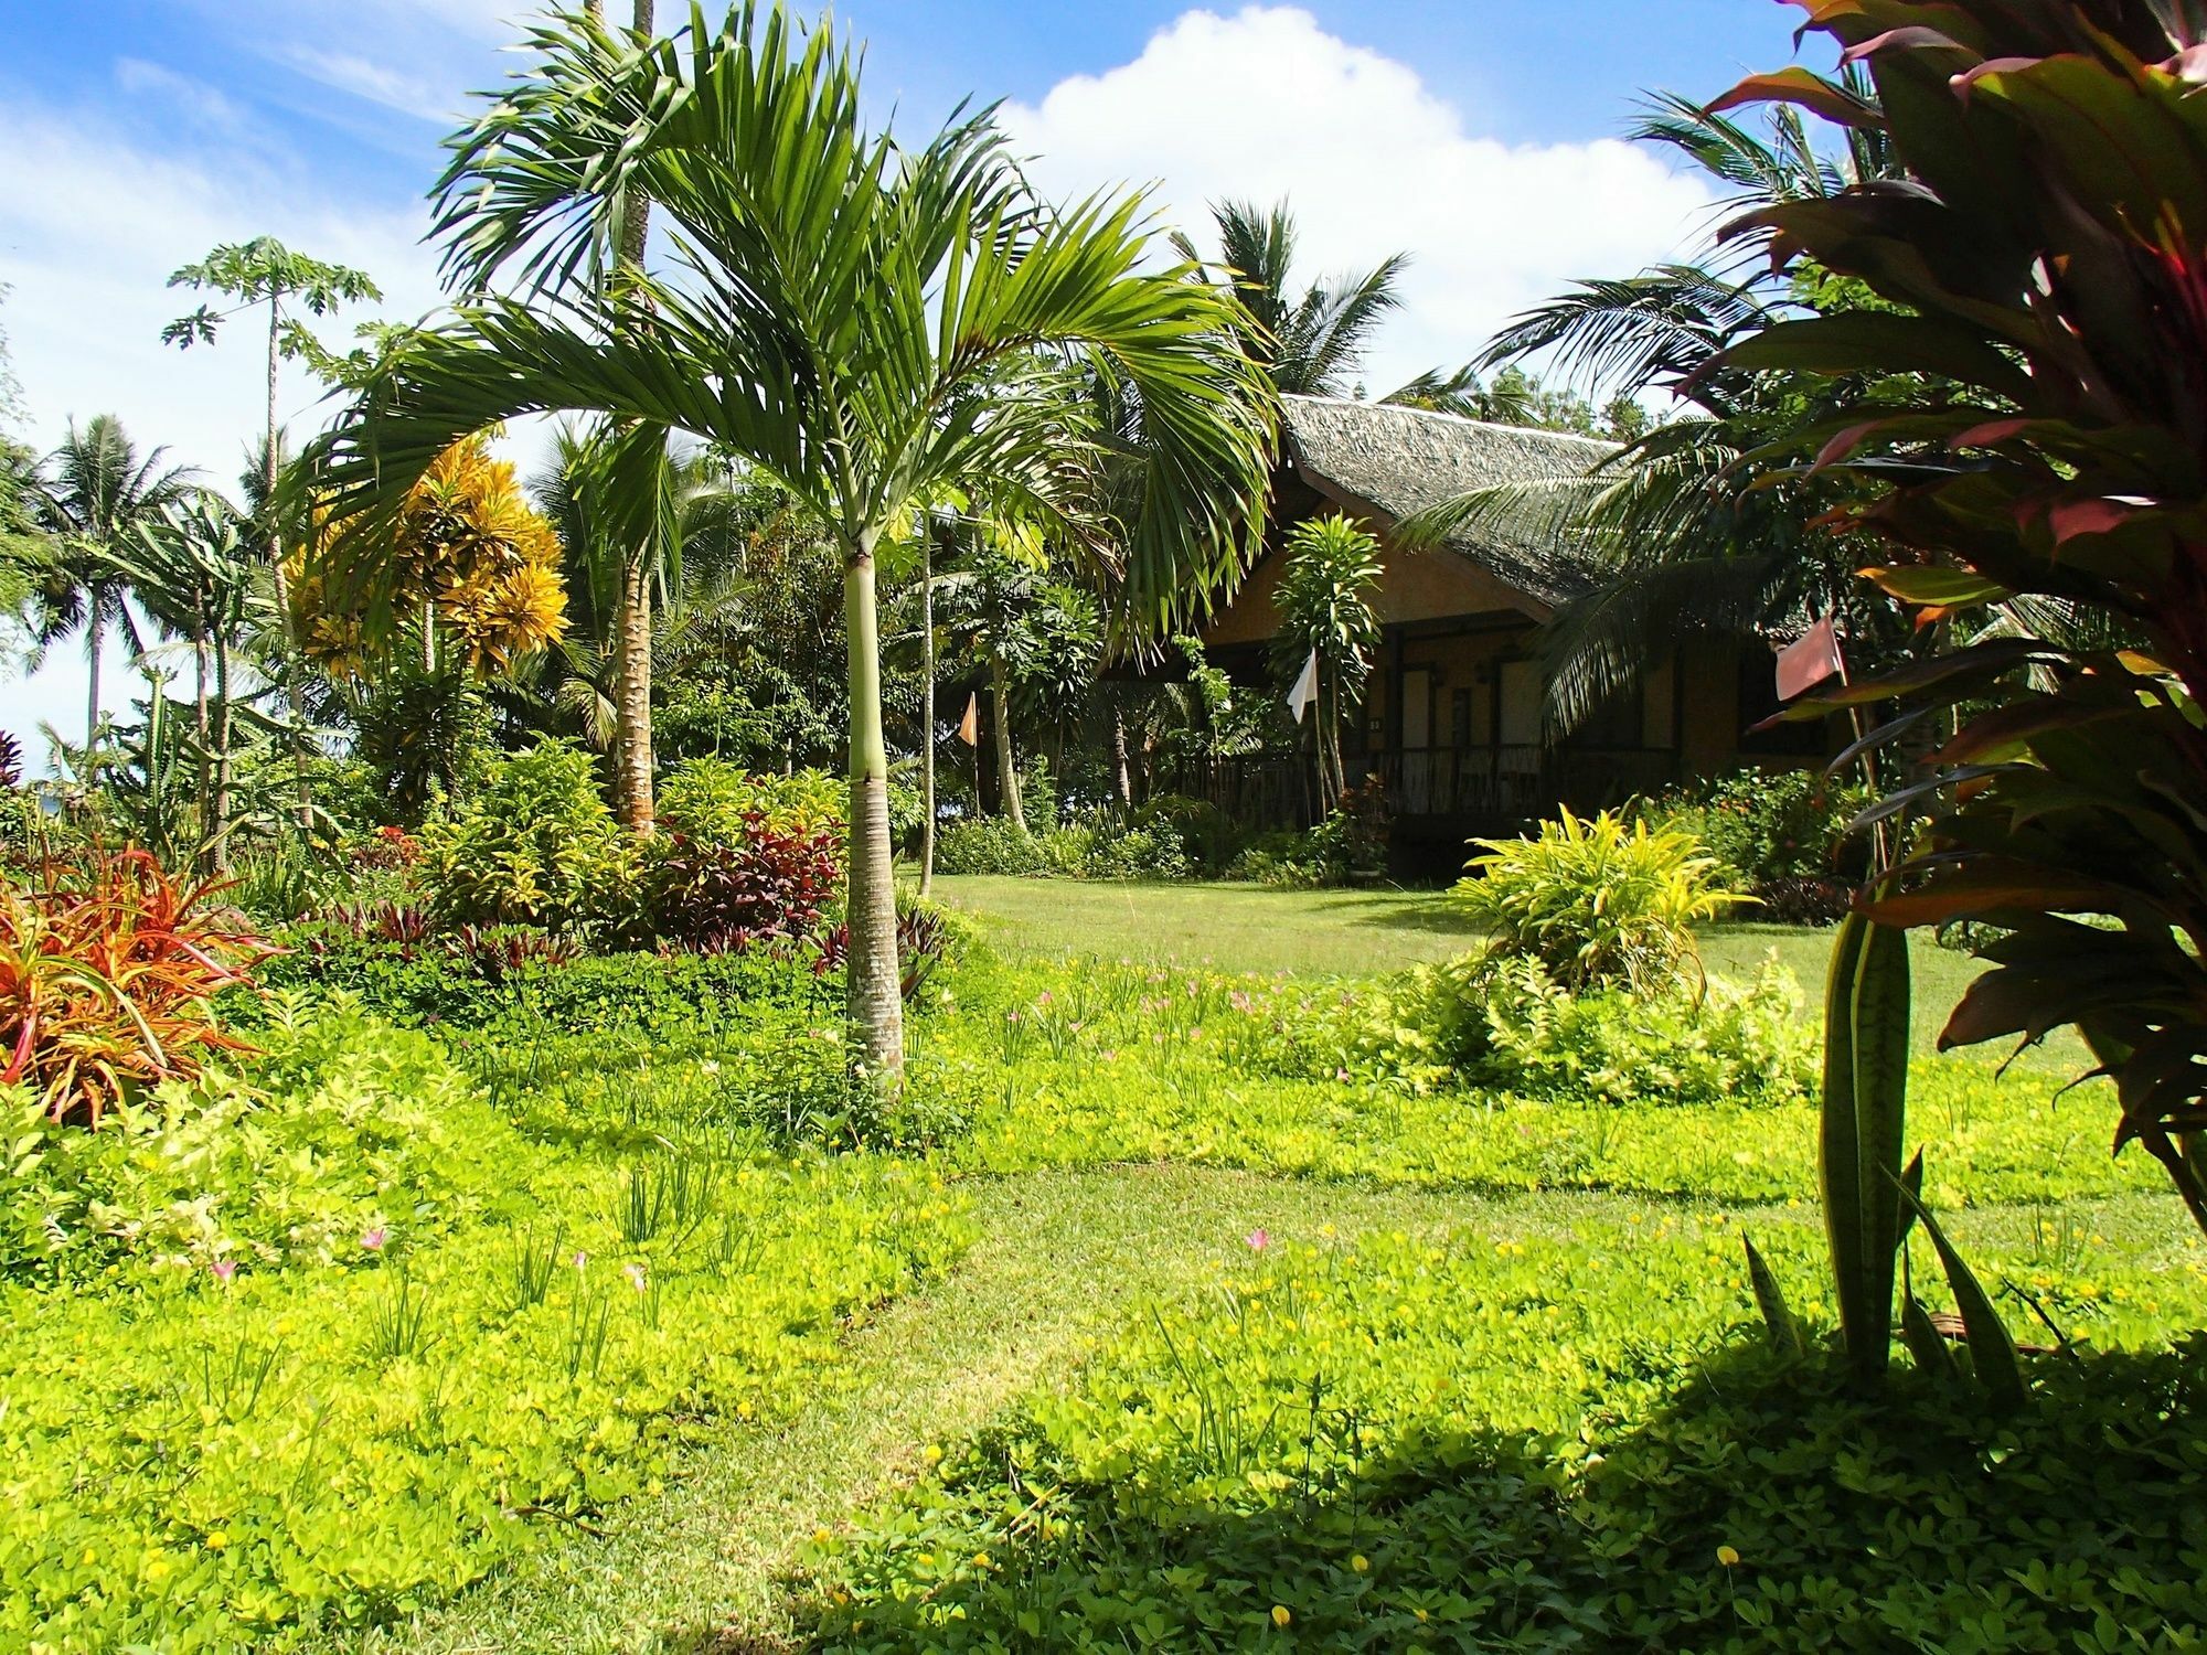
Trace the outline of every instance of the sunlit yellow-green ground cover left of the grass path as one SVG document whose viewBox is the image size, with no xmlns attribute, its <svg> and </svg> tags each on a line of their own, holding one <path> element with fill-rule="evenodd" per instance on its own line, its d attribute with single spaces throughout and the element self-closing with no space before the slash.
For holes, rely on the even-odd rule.
<svg viewBox="0 0 2207 1655">
<path fill-rule="evenodd" d="M 801 1024 L 772 1042 L 806 1061 Z M 196 1189 L 212 1234 L 192 1262 L 0 1289 L 9 1646 L 232 1648 L 404 1620 L 658 1494 L 704 1421 L 788 1417 L 841 1359 L 845 1317 L 967 1238 L 914 1163 L 779 1156 L 711 1125 L 724 1088 L 695 1061 L 638 1086 L 631 1050 L 627 1088 L 594 1072 L 554 1099 L 514 1083 L 532 1048 L 470 1083 L 346 1013 L 271 1046 L 271 1072 L 223 1081 L 227 1134 L 132 1139 L 159 1161 L 143 1183 L 88 1167 L 128 1200 Z M 649 1130 L 638 1092 L 664 1106 Z"/>
</svg>

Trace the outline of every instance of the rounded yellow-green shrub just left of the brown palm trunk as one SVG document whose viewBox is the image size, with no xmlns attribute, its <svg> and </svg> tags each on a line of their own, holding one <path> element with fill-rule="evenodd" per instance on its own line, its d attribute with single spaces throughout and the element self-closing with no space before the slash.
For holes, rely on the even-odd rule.
<svg viewBox="0 0 2207 1655">
<path fill-rule="evenodd" d="M 422 830 L 422 876 L 444 925 L 572 931 L 633 907 L 636 841 L 605 808 L 589 755 L 543 739 Z"/>
</svg>

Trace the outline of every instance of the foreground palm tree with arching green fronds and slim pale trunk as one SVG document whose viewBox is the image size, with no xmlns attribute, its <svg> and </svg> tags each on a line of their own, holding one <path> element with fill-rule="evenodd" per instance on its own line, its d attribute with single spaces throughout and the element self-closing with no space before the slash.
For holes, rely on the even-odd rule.
<svg viewBox="0 0 2207 1655">
<path fill-rule="evenodd" d="M 1152 452 L 1128 532 L 1130 613 L 1163 627 L 1256 545 L 1271 417 L 1232 298 L 1145 267 L 1139 199 L 1037 203 L 991 117 L 918 148 L 870 135 L 832 26 L 744 4 L 719 33 L 638 46 L 534 31 L 536 71 L 455 139 L 439 232 L 483 293 L 411 338 L 318 444 L 355 514 L 333 563 L 373 580 L 375 525 L 452 441 L 539 410 L 660 424 L 777 479 L 843 558 L 850 673 L 850 1015 L 903 1070 L 876 558 L 947 485 L 1055 510 L 1088 439 L 1075 364 L 1141 397 Z M 649 196 L 673 269 L 569 280 Z M 492 296 L 514 271 L 534 305 Z M 987 384 L 987 399 L 969 395 Z"/>
</svg>

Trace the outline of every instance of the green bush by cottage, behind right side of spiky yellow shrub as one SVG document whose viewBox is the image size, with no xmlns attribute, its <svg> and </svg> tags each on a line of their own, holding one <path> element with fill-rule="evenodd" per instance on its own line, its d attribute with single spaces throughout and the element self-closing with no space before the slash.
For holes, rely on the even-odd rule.
<svg viewBox="0 0 2207 1655">
<path fill-rule="evenodd" d="M 1772 925 L 1836 920 L 1867 872 L 1863 836 L 1847 825 L 1869 790 L 1816 770 L 1735 770 L 1649 799 L 1638 814 L 1691 834 L 1724 880 L 1757 900 Z"/>
</svg>

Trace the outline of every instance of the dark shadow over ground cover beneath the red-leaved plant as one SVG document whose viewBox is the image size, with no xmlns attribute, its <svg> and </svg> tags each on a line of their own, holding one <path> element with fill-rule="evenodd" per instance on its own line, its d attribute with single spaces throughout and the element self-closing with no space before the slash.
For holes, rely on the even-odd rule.
<svg viewBox="0 0 2207 1655">
<path fill-rule="evenodd" d="M 1081 1483 L 1013 1423 L 799 1624 L 830 1651 L 2194 1648 L 2200 1357 L 2046 1362 L 1995 1421 L 1913 1373 L 1872 1406 L 1737 1346 L 1640 1421 L 1412 1423 L 1273 1496 L 1196 1443 Z"/>
</svg>

